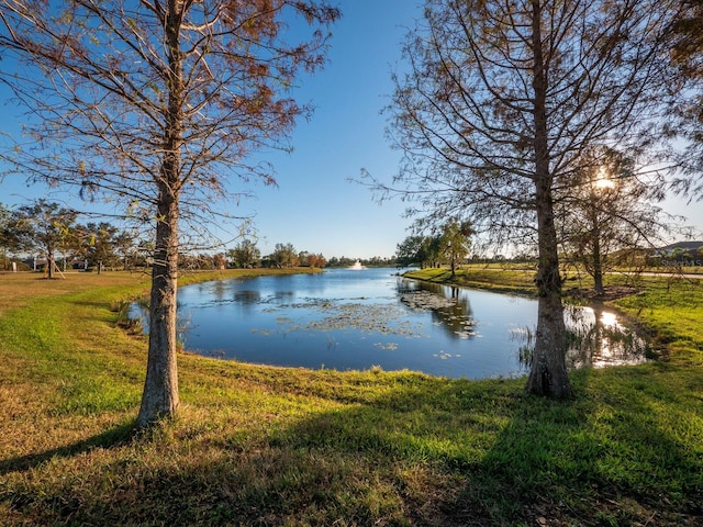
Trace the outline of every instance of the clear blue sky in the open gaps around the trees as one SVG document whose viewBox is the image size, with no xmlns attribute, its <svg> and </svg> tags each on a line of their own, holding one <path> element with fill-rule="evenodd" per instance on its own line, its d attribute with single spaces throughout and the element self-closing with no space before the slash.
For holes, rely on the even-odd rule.
<svg viewBox="0 0 703 527">
<path fill-rule="evenodd" d="M 391 70 L 399 65 L 400 43 L 421 15 L 421 5 L 417 0 L 338 4 L 343 18 L 333 27 L 330 61 L 295 93 L 301 102 L 312 102 L 315 112 L 298 124 L 292 154 L 264 154 L 275 165 L 278 188 L 255 187 L 254 199 L 231 209 L 235 215 L 254 216 L 264 255 L 277 243 L 291 243 L 326 258 L 386 257 L 409 235 L 411 221 L 402 217 L 405 204 L 395 200 L 379 205 L 367 188 L 348 179 L 365 168 L 390 180 L 398 169 L 400 153 L 384 138 L 387 121 L 380 111 L 390 102 Z M 2 90 L 0 101 L 5 98 Z M 1 131 L 15 113 L 0 106 Z M 0 203 L 5 205 L 42 195 L 45 189 L 27 188 L 23 181 L 8 178 L 0 183 Z M 703 229 L 701 203 L 684 206 L 670 200 L 666 208 Z"/>
</svg>

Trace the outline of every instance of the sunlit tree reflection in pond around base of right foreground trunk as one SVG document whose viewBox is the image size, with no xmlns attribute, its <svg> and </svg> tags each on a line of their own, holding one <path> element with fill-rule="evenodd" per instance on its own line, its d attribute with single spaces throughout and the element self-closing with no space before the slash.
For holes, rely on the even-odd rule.
<svg viewBox="0 0 703 527">
<path fill-rule="evenodd" d="M 634 327 L 624 325 L 612 311 L 602 305 L 565 306 L 567 326 L 567 366 L 604 368 L 606 366 L 638 365 L 654 356 L 647 338 Z M 513 332 L 520 343 L 521 363 L 531 366 L 534 330 Z"/>
</svg>

